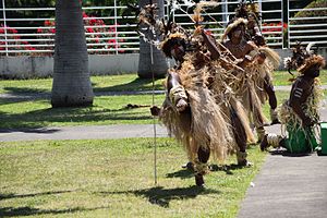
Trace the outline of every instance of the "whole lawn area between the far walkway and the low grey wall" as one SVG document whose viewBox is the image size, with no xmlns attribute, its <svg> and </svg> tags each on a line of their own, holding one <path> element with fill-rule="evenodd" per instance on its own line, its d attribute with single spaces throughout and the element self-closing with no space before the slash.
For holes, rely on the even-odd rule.
<svg viewBox="0 0 327 218">
<path fill-rule="evenodd" d="M 286 72 L 276 72 L 275 76 L 276 84 L 287 85 L 284 83 L 288 81 L 289 75 Z M 322 77 L 323 82 L 325 77 Z M 146 90 L 152 88 L 150 80 L 140 80 L 134 74 L 93 76 L 92 81 L 95 93 L 98 94 L 108 90 Z M 164 80 L 156 81 L 156 86 L 162 87 L 162 82 Z M 50 94 L 50 78 L 0 81 L 0 93 L 16 95 L 12 98 L 0 98 L 0 129 L 121 123 L 149 124 L 153 122 L 149 113 L 149 106 L 153 105 L 152 95 L 106 96 L 106 94 L 99 94 L 95 97 L 93 107 L 51 108 L 49 99 L 39 95 L 40 93 Z M 288 92 L 277 92 L 278 104 L 288 97 Z M 156 95 L 154 98 L 155 105 L 160 106 L 165 95 Z M 129 104 L 144 107 L 129 109 L 126 108 Z M 268 110 L 266 104 L 264 111 L 267 117 L 269 117 Z"/>
</svg>

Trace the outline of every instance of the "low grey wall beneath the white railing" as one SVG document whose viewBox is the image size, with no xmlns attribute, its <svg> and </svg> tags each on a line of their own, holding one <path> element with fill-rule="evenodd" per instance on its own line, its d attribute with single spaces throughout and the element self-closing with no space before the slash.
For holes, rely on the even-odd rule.
<svg viewBox="0 0 327 218">
<path fill-rule="evenodd" d="M 276 49 L 281 60 L 290 57 L 290 49 Z M 327 59 L 327 49 L 319 49 L 318 53 Z M 92 75 L 114 75 L 136 73 L 138 68 L 138 53 L 88 57 Z M 170 65 L 173 61 L 170 61 Z M 278 70 L 283 70 L 283 62 Z M 50 77 L 53 72 L 52 57 L 0 57 L 0 78 L 38 78 Z"/>
</svg>

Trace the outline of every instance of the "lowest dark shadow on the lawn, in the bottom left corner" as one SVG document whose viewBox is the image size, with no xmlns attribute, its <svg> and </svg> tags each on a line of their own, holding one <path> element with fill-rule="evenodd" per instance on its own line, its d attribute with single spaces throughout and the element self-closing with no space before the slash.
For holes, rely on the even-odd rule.
<svg viewBox="0 0 327 218">
<path fill-rule="evenodd" d="M 1 217 L 17 217 L 17 216 L 33 216 L 33 215 L 60 215 L 60 214 L 72 214 L 78 211 L 88 211 L 88 210 L 96 210 L 101 209 L 104 207 L 96 207 L 96 208 L 68 208 L 68 209 L 38 209 L 33 207 L 3 207 L 0 208 Z"/>
</svg>

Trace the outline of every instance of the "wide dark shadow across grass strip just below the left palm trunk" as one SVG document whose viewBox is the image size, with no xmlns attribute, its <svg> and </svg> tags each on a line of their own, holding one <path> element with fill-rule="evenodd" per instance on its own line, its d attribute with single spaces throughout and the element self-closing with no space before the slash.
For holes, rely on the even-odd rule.
<svg viewBox="0 0 327 218">
<path fill-rule="evenodd" d="M 134 111 L 126 107 L 120 109 L 99 109 L 93 110 L 88 108 L 47 108 L 34 110 L 25 113 L 4 113 L 0 112 L 0 129 L 8 132 L 10 129 L 32 129 L 29 132 L 41 132 L 47 123 L 51 122 L 101 122 L 111 121 L 128 121 L 128 120 L 152 120 L 150 112 L 144 113 Z M 45 131 L 45 130 L 44 130 Z M 50 133 L 50 132 L 49 132 Z"/>
</svg>

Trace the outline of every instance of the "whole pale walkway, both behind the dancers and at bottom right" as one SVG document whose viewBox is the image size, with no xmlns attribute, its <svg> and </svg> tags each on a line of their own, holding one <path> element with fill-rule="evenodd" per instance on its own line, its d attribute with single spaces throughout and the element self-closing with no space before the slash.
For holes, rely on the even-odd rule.
<svg viewBox="0 0 327 218">
<path fill-rule="evenodd" d="M 322 111 L 327 121 L 327 109 Z M 158 137 L 167 136 L 157 124 Z M 279 133 L 280 125 L 267 128 Z M 29 140 L 85 140 L 153 137 L 154 125 L 99 125 L 0 130 L 1 142 Z M 261 172 L 249 187 L 239 218 L 324 218 L 327 217 L 327 156 L 268 155 Z"/>
</svg>

